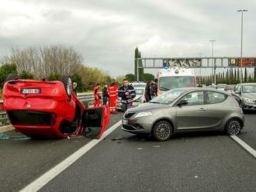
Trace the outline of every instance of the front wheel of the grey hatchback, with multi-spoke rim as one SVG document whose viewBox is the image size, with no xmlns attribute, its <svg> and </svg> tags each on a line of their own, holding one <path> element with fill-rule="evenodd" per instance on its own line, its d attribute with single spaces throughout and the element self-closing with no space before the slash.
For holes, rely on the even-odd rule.
<svg viewBox="0 0 256 192">
<path fill-rule="evenodd" d="M 159 142 L 165 142 L 170 139 L 172 133 L 172 126 L 169 122 L 161 121 L 157 122 L 152 130 L 154 139 Z"/>
</svg>

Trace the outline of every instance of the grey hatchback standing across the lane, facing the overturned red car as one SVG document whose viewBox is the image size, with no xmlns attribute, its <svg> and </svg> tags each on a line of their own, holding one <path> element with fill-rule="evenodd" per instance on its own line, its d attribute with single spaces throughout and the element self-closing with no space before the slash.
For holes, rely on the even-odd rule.
<svg viewBox="0 0 256 192">
<path fill-rule="evenodd" d="M 178 88 L 128 109 L 122 124 L 126 132 L 148 133 L 157 141 L 166 141 L 178 132 L 222 130 L 237 135 L 244 127 L 244 114 L 229 93 Z"/>
</svg>

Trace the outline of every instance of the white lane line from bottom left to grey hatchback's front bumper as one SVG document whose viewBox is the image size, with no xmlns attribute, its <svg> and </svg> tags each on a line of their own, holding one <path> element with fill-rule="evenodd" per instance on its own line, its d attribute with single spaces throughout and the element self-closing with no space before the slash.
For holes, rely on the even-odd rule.
<svg viewBox="0 0 256 192">
<path fill-rule="evenodd" d="M 85 153 L 92 149 L 92 147 L 96 146 L 99 142 L 105 139 L 107 135 L 109 135 L 112 131 L 118 128 L 119 125 L 122 124 L 121 122 L 121 120 L 119 122 L 116 122 L 115 125 L 112 125 L 112 127 L 107 129 L 106 132 L 103 133 L 100 139 L 93 139 L 91 142 L 88 142 L 88 144 L 82 146 L 81 149 L 78 149 L 71 156 L 68 156 L 66 159 L 64 159 L 61 163 L 58 163 L 51 170 L 47 171 L 47 173 L 44 173 L 41 177 L 37 178 L 32 183 L 24 187 L 22 190 L 20 190 L 20 192 L 34 192 L 40 190 L 40 188 L 49 183 L 50 180 L 54 179 L 54 177 L 67 169 L 68 166 L 71 166 L 71 164 L 74 163 L 81 156 L 85 155 Z"/>
</svg>

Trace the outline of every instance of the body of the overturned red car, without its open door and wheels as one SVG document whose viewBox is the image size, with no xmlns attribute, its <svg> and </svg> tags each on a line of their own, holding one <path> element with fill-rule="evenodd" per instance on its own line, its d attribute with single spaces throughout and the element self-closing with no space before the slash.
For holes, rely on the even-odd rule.
<svg viewBox="0 0 256 192">
<path fill-rule="evenodd" d="M 40 94 L 22 94 L 22 89 L 38 89 Z M 32 137 L 67 137 L 81 131 L 85 105 L 61 81 L 8 81 L 3 87 L 4 108 L 12 125 Z"/>
</svg>

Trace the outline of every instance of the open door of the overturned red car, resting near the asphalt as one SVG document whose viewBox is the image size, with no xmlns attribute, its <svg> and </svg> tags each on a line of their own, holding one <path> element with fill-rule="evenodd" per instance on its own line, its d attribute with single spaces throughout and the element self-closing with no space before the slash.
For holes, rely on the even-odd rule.
<svg viewBox="0 0 256 192">
<path fill-rule="evenodd" d="M 109 107 L 86 108 L 83 115 L 84 135 L 98 139 L 109 124 Z"/>
</svg>

